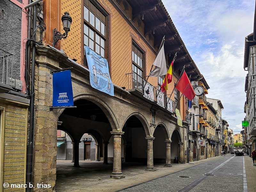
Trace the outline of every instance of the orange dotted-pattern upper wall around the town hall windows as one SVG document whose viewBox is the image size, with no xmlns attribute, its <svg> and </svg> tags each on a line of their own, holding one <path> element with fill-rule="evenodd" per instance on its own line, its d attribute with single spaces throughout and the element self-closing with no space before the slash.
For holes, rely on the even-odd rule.
<svg viewBox="0 0 256 192">
<path fill-rule="evenodd" d="M 82 34 L 82 0 L 61 0 L 61 14 L 68 11 L 72 17 L 71 31 L 68 33 L 67 39 L 61 40 L 61 49 L 71 59 L 76 58 L 78 63 L 82 63 L 81 59 L 81 34 Z M 126 74 L 132 72 L 132 39 L 145 52 L 146 58 L 146 74 L 148 75 L 152 63 L 156 58 L 153 52 L 144 42 L 139 34 L 126 22 L 119 14 L 115 7 L 108 0 L 99 0 L 102 7 L 110 14 L 110 41 L 111 41 L 111 60 L 110 71 L 111 80 L 120 87 L 128 88 L 128 76 Z M 65 4 L 65 6 L 64 6 Z M 148 82 L 153 86 L 157 86 L 157 77 L 149 77 Z M 177 82 L 177 78 L 173 78 L 173 82 Z M 167 94 L 171 94 L 174 83 L 168 85 Z M 182 96 L 183 97 L 183 96 Z M 174 100 L 174 94 L 171 97 Z M 184 100 L 180 100 L 180 114 L 184 119 Z"/>
</svg>

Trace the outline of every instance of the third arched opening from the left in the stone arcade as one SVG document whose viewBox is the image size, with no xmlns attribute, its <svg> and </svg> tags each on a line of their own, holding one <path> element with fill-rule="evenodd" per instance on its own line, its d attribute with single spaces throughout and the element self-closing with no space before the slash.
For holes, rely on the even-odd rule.
<svg viewBox="0 0 256 192">
<path fill-rule="evenodd" d="M 168 130 L 163 123 L 159 123 L 153 133 L 154 163 L 166 163 L 166 142 L 170 141 Z"/>
</svg>

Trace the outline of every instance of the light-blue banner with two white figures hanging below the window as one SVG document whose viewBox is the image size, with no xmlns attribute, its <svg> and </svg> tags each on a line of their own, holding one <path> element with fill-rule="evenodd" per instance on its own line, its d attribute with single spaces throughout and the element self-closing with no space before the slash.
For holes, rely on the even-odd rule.
<svg viewBox="0 0 256 192">
<path fill-rule="evenodd" d="M 114 85 L 110 79 L 108 61 L 85 46 L 86 59 L 90 70 L 91 86 L 114 96 Z"/>
</svg>

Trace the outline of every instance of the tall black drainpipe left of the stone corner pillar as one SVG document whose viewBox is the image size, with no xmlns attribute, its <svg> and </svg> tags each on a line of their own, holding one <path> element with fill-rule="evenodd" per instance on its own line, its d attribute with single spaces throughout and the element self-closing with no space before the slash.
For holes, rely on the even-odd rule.
<svg viewBox="0 0 256 192">
<path fill-rule="evenodd" d="M 31 22 L 31 21 L 30 21 Z M 36 5 L 33 5 L 33 30 L 36 29 Z M 31 34 L 31 32 L 30 32 Z M 35 40 L 35 36 L 34 39 Z M 30 96 L 30 123 L 29 123 L 29 139 L 27 146 L 27 168 L 26 168 L 26 184 L 32 183 L 32 172 L 33 172 L 33 143 L 34 143 L 34 126 L 35 126 L 35 57 L 36 57 L 36 45 L 33 43 L 32 48 L 32 67 L 31 67 L 31 92 Z M 32 188 L 27 187 L 26 192 L 31 192 Z"/>
</svg>

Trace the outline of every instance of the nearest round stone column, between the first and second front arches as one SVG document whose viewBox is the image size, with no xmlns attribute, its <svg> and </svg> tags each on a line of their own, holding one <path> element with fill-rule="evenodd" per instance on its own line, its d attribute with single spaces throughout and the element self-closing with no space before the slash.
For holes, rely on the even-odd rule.
<svg viewBox="0 0 256 192">
<path fill-rule="evenodd" d="M 121 138 L 124 132 L 113 131 L 114 144 L 113 144 L 113 172 L 110 176 L 113 179 L 123 179 L 125 176 L 122 174 L 122 156 L 121 156 Z"/>
</svg>

